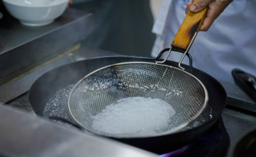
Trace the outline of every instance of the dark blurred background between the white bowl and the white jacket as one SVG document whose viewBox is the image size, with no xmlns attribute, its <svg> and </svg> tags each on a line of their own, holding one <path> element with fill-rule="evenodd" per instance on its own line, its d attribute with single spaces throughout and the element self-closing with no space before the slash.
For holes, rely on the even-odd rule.
<svg viewBox="0 0 256 157">
<path fill-rule="evenodd" d="M 95 15 L 95 27 L 83 41 L 88 47 L 150 57 L 151 33 L 162 0 L 73 0 L 70 7 Z"/>
</svg>

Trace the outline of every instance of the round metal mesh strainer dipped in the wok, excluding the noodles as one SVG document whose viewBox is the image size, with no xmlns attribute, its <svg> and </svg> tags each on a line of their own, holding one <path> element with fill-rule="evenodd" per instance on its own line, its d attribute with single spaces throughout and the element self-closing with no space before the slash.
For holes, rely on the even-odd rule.
<svg viewBox="0 0 256 157">
<path fill-rule="evenodd" d="M 175 117 L 169 118 L 166 127 L 157 130 L 152 136 L 174 133 L 187 126 L 200 115 L 208 101 L 207 90 L 203 83 L 180 66 L 201 23 L 197 22 L 196 25 L 197 29 L 189 38 L 187 42 L 189 44 L 185 45 L 186 51 L 178 68 L 163 64 L 172 50 L 181 51 L 182 46 L 176 48 L 174 45 L 176 39 L 174 39 L 172 48 L 163 61 L 117 63 L 97 69 L 82 78 L 73 88 L 68 100 L 69 113 L 74 121 L 97 134 L 130 137 L 128 134 L 119 136 L 95 130 L 92 127 L 92 115 L 100 113 L 106 106 L 116 103 L 119 99 L 140 96 L 162 99 L 176 111 Z M 180 36 L 179 32 L 180 30 L 176 37 Z M 143 135 L 138 136 L 143 137 Z"/>
</svg>

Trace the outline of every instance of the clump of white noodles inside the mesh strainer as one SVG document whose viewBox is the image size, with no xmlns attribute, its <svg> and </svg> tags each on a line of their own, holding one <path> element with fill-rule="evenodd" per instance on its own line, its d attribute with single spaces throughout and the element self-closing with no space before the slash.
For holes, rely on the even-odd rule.
<svg viewBox="0 0 256 157">
<path fill-rule="evenodd" d="M 129 97 L 92 116 L 92 128 L 112 135 L 155 135 L 166 128 L 175 110 L 161 99 Z"/>
</svg>

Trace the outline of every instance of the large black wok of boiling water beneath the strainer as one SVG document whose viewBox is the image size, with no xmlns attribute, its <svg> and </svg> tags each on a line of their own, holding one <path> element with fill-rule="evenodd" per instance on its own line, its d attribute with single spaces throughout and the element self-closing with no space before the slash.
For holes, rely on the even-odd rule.
<svg viewBox="0 0 256 157">
<path fill-rule="evenodd" d="M 164 50 L 167 51 L 168 49 Z M 164 52 L 162 51 L 162 52 Z M 67 65 L 60 66 L 39 77 L 32 85 L 29 92 L 29 101 L 34 112 L 43 116 L 43 110 L 46 103 L 54 96 L 56 91 L 65 88 L 68 84 L 77 83 L 80 78 L 100 67 L 119 62 L 146 61 L 153 62 L 153 58 L 116 56 L 101 57 L 87 60 L 81 60 Z M 165 64 L 177 67 L 177 62 L 166 61 Z M 113 138 L 141 149 L 145 149 L 157 154 L 166 153 L 195 140 L 205 133 L 220 118 L 227 102 L 227 95 L 222 85 L 207 73 L 202 72 L 190 65 L 182 65 L 185 70 L 196 76 L 207 88 L 209 101 L 206 109 L 195 121 L 201 121 L 199 124 L 189 124 L 181 132 L 146 138 Z M 209 118 L 211 117 L 211 118 Z M 202 121 L 204 119 L 204 121 Z M 194 122 L 195 122 L 194 121 Z"/>
</svg>

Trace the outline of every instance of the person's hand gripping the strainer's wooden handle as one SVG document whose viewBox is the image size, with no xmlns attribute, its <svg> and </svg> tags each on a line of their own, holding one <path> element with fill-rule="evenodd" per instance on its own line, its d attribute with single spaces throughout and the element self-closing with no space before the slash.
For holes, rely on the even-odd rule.
<svg viewBox="0 0 256 157">
<path fill-rule="evenodd" d="M 191 12 L 199 12 L 208 6 L 206 18 L 203 21 L 200 31 L 207 31 L 214 20 L 223 12 L 223 10 L 229 5 L 232 0 L 198 0 L 194 4 L 192 2 L 187 3 L 186 13 L 189 9 Z"/>
</svg>

